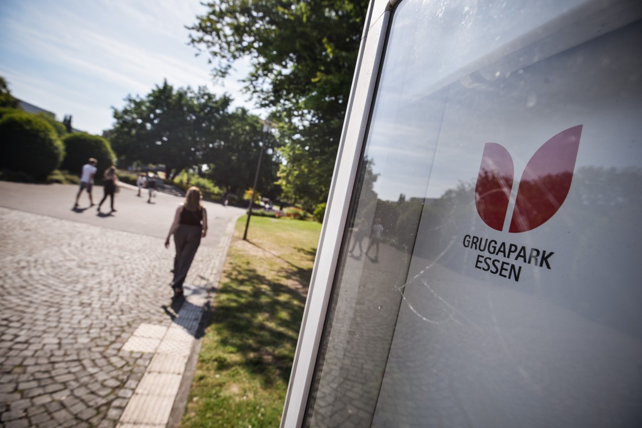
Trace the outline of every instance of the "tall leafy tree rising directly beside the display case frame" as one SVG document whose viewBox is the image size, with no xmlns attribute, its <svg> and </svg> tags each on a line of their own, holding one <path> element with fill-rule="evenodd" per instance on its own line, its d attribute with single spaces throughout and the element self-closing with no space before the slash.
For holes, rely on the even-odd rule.
<svg viewBox="0 0 642 428">
<path fill-rule="evenodd" d="M 279 182 L 306 205 L 327 199 L 368 3 L 221 0 L 189 28 L 216 76 L 249 58 L 245 87 L 288 136 Z"/>
</svg>

